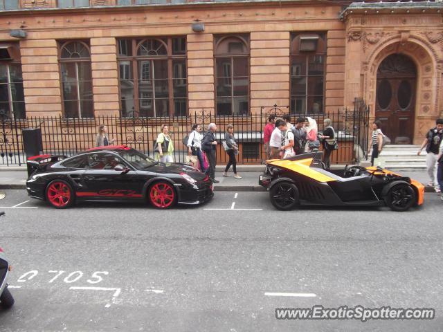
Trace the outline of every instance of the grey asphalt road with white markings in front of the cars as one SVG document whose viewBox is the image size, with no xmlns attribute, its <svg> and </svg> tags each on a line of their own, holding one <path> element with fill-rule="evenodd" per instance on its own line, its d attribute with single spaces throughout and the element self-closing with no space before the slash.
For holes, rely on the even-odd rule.
<svg viewBox="0 0 443 332">
<path fill-rule="evenodd" d="M 0 246 L 16 304 L 0 311 L 2 332 L 443 331 L 437 194 L 404 213 L 278 212 L 265 192 L 216 192 L 206 205 L 170 211 L 55 210 L 21 190 L 6 194 Z M 316 304 L 426 307 L 436 317 L 275 319 L 275 308 Z"/>
</svg>

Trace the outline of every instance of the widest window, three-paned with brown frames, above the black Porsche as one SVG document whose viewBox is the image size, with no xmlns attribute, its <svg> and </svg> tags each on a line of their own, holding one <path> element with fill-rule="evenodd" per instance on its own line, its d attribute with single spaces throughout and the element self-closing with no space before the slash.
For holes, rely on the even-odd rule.
<svg viewBox="0 0 443 332">
<path fill-rule="evenodd" d="M 118 40 L 122 116 L 186 116 L 186 39 Z"/>
</svg>

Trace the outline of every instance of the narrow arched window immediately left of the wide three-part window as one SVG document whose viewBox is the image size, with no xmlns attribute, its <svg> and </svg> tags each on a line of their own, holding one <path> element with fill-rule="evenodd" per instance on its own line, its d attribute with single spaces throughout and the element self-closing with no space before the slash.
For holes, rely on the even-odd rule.
<svg viewBox="0 0 443 332">
<path fill-rule="evenodd" d="M 91 52 L 86 42 L 60 43 L 65 118 L 93 118 Z"/>
</svg>

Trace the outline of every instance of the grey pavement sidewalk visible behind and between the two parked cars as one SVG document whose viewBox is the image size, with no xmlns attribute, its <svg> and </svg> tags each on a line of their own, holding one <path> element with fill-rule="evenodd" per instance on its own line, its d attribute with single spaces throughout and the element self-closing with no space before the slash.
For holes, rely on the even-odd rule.
<svg viewBox="0 0 443 332">
<path fill-rule="evenodd" d="M 229 172 L 230 177 L 225 178 L 221 172 L 216 172 L 215 178 L 220 183 L 215 183 L 214 190 L 217 191 L 232 191 L 232 192 L 260 192 L 264 191 L 264 188 L 258 185 L 258 177 L 262 172 L 257 172 L 259 167 L 263 165 L 257 165 L 257 167 L 245 169 L 242 167 L 242 171 L 237 169 L 241 179 L 233 177 L 233 173 Z M 222 167 L 220 167 L 221 169 Z M 219 167 L 217 167 L 217 170 Z M 255 172 L 248 172 L 248 170 L 254 170 Z M 425 172 L 401 172 L 404 176 L 409 176 L 424 185 L 428 183 L 428 176 Z M 5 189 L 26 189 L 26 170 L 19 169 L 8 170 L 6 168 L 0 168 L 0 190 Z M 426 187 L 426 192 L 433 192 L 433 187 Z"/>
</svg>

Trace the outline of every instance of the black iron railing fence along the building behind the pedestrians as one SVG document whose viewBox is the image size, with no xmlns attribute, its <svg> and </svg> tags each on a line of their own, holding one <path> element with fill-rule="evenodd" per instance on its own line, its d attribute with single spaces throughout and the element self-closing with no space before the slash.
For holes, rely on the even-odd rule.
<svg viewBox="0 0 443 332">
<path fill-rule="evenodd" d="M 257 164 L 265 159 L 263 132 L 267 118 L 273 113 L 283 116 L 287 107 L 262 107 L 260 113 L 248 116 L 217 116 L 212 111 L 201 110 L 187 117 L 162 118 L 120 118 L 103 116 L 98 118 L 66 119 L 62 117 L 37 117 L 26 119 L 3 118 L 0 121 L 0 165 L 23 165 L 23 129 L 39 128 L 42 131 L 44 154 L 64 154 L 71 156 L 95 146 L 100 124 L 107 126 L 110 139 L 114 144 L 134 147 L 145 154 L 154 156 L 153 146 L 161 126 L 168 124 L 174 142 L 174 160 L 184 162 L 188 150 L 183 138 L 190 133 L 191 125 L 201 124 L 204 128 L 210 123 L 217 124 L 217 141 L 224 138 L 226 126 L 233 124 L 235 137 L 239 143 L 238 162 Z M 338 109 L 325 114 L 291 114 L 292 122 L 299 116 L 311 116 L 323 130 L 323 120 L 329 118 L 338 135 L 340 148 L 332 154 L 332 163 L 354 163 L 357 158 L 366 157 L 368 147 L 369 109 L 362 100 L 356 100 L 353 110 Z M 217 148 L 219 164 L 226 163 L 228 156 L 221 147 Z"/>
</svg>

